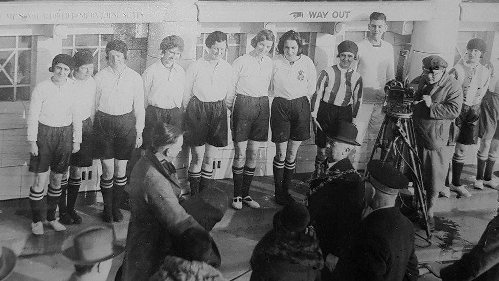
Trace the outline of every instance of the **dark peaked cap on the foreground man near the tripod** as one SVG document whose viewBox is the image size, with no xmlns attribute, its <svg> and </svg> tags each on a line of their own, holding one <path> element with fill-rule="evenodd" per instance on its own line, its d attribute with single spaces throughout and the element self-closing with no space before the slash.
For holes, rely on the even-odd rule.
<svg viewBox="0 0 499 281">
<path fill-rule="evenodd" d="M 367 164 L 367 170 L 371 177 L 371 184 L 383 193 L 395 195 L 398 189 L 409 185 L 409 180 L 391 163 L 371 160 Z"/>
</svg>

